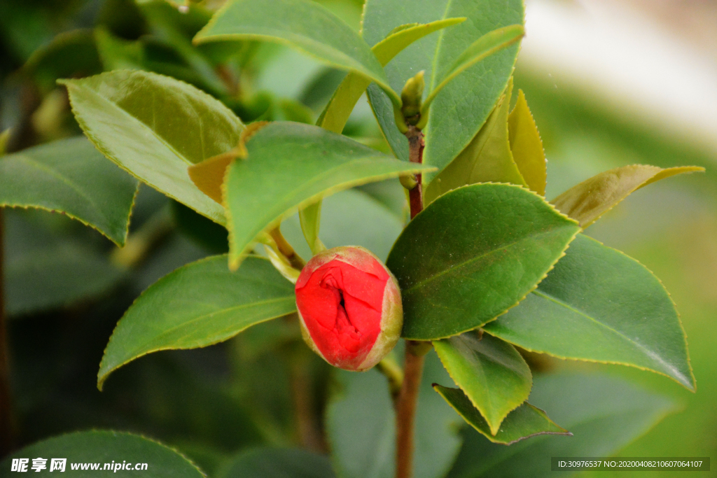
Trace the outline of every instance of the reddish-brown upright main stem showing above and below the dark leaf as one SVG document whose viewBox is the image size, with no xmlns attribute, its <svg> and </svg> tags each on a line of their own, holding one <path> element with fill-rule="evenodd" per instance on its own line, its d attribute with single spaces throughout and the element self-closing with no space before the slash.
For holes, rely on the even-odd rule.
<svg viewBox="0 0 717 478">
<path fill-rule="evenodd" d="M 406 133 L 409 144 L 409 160 L 423 162 L 423 133 L 409 126 Z M 416 175 L 417 186 L 409 191 L 411 219 L 423 210 L 421 175 Z M 396 404 L 396 478 L 411 478 L 413 474 L 414 423 L 418 404 L 418 391 L 424 362 L 424 343 L 406 341 L 404 381 Z"/>
</svg>

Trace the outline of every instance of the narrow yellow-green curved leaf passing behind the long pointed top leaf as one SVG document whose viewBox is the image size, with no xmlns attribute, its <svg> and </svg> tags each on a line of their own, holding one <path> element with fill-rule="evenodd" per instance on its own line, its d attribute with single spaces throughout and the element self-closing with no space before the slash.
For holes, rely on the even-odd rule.
<svg viewBox="0 0 717 478">
<path fill-rule="evenodd" d="M 391 59 L 408 47 L 409 44 L 422 39 L 429 33 L 452 27 L 462 21 L 465 21 L 465 18 L 432 21 L 428 24 L 405 25 L 405 28 L 391 32 L 388 37 L 375 44 L 371 51 L 379 59 L 381 66 L 386 66 Z M 371 80 L 357 73 L 349 72 L 341 85 L 338 85 L 316 124 L 334 133 L 341 133 L 349 115 L 351 115 L 351 111 L 353 111 L 353 107 L 356 106 L 356 102 L 359 101 L 359 98 L 361 98 L 369 85 L 371 85 Z"/>
</svg>

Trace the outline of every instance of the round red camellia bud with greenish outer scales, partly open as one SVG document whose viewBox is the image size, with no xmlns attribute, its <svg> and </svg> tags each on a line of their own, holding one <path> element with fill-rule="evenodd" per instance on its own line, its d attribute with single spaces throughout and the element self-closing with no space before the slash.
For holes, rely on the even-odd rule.
<svg viewBox="0 0 717 478">
<path fill-rule="evenodd" d="M 331 365 L 364 371 L 384 358 L 403 325 L 396 278 L 363 247 L 316 254 L 296 282 L 305 342 Z"/>
</svg>

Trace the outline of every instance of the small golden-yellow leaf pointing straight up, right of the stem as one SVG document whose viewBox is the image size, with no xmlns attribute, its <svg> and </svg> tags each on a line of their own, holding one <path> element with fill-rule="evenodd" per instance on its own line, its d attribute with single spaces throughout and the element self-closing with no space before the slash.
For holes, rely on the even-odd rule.
<svg viewBox="0 0 717 478">
<path fill-rule="evenodd" d="M 518 171 L 521 171 L 531 191 L 545 196 L 547 170 L 543 141 L 523 90 L 518 90 L 516 106 L 508 116 L 508 133 L 513 161 L 518 165 Z"/>
</svg>

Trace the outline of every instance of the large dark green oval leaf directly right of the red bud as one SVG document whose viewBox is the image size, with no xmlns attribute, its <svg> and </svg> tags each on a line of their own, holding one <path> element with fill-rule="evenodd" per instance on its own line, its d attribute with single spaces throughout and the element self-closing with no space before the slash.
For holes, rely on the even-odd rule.
<svg viewBox="0 0 717 478">
<path fill-rule="evenodd" d="M 521 186 L 474 184 L 440 196 L 386 261 L 401 287 L 402 336 L 437 340 L 493 320 L 538 285 L 577 231 Z"/>
</svg>

